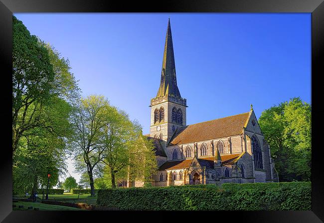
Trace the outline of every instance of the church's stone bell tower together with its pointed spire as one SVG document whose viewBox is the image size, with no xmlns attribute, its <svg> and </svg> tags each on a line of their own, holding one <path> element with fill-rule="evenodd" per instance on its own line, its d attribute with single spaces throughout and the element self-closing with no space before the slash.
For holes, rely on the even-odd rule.
<svg viewBox="0 0 324 223">
<path fill-rule="evenodd" d="M 173 43 L 170 19 L 168 20 L 161 81 L 158 94 L 151 99 L 150 136 L 162 139 L 162 144 L 169 142 L 177 128 L 186 126 L 186 99 L 181 98 L 175 74 Z"/>
</svg>

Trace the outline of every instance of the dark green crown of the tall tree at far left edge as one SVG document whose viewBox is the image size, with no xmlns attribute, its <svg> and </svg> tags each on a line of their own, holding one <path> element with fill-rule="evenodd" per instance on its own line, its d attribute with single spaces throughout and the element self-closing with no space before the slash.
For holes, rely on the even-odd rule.
<svg viewBox="0 0 324 223">
<path fill-rule="evenodd" d="M 12 16 L 12 151 L 25 131 L 40 126 L 35 113 L 49 97 L 54 71 L 48 51 Z M 33 109 L 29 107 L 34 104 Z M 39 105 L 39 106 L 38 106 Z M 26 117 L 28 113 L 28 117 Z"/>
</svg>

